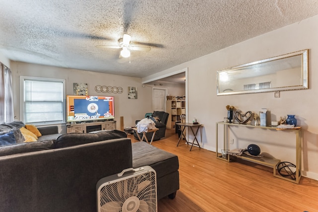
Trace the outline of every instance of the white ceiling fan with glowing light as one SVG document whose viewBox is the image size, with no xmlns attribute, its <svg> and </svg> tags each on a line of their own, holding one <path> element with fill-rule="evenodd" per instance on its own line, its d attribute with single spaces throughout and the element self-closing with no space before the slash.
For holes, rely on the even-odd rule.
<svg viewBox="0 0 318 212">
<path fill-rule="evenodd" d="M 130 45 L 131 36 L 128 34 L 124 34 L 123 38 L 120 38 L 118 40 L 119 45 L 118 46 L 103 46 L 99 45 L 96 46 L 97 48 L 111 48 L 111 49 L 122 49 L 120 51 L 120 57 L 123 58 L 129 58 L 130 57 L 130 51 L 145 51 L 149 52 L 151 50 L 151 47 L 146 46 L 131 46 Z"/>
</svg>

